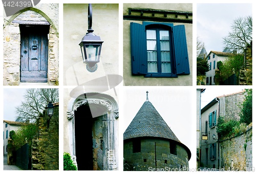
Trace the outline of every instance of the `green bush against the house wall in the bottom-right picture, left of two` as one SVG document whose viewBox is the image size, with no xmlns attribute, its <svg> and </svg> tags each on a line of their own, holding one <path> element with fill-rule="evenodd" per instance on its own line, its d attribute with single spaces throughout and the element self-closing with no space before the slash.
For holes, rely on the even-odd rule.
<svg viewBox="0 0 256 174">
<path fill-rule="evenodd" d="M 224 121 L 224 118 L 220 116 L 218 118 L 218 124 L 216 128 L 216 132 L 220 137 L 228 135 L 231 136 L 232 134 L 236 133 L 236 127 L 239 127 L 240 123 L 236 120 L 229 120 Z"/>
</svg>

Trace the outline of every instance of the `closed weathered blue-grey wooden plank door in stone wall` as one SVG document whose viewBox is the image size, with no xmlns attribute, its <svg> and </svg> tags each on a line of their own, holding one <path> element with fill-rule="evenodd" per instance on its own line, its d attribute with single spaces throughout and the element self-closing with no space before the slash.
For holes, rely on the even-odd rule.
<svg viewBox="0 0 256 174">
<path fill-rule="evenodd" d="M 47 82 L 46 25 L 20 25 L 20 82 Z"/>
</svg>

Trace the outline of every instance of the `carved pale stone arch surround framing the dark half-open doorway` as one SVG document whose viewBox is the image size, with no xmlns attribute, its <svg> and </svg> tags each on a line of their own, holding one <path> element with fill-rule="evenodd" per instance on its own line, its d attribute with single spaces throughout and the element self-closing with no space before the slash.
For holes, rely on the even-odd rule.
<svg viewBox="0 0 256 174">
<path fill-rule="evenodd" d="M 69 135 L 70 135 L 70 152 L 73 161 L 76 164 L 76 145 L 75 145 L 75 111 L 83 106 L 90 107 L 92 117 L 99 117 L 105 113 L 105 127 L 104 127 L 104 149 L 105 155 L 103 157 L 104 170 L 117 170 L 117 156 L 118 156 L 118 137 L 115 133 L 118 129 L 117 119 L 119 115 L 118 105 L 115 99 L 102 93 L 86 93 L 80 94 L 77 98 L 71 98 L 68 104 L 67 119 L 69 120 Z M 96 108 L 96 109 L 95 109 Z M 101 108 L 101 109 L 100 109 Z M 97 112 L 96 112 L 97 111 Z M 103 128 L 102 128 L 103 129 Z M 78 166 L 79 168 L 79 166 Z"/>
</svg>

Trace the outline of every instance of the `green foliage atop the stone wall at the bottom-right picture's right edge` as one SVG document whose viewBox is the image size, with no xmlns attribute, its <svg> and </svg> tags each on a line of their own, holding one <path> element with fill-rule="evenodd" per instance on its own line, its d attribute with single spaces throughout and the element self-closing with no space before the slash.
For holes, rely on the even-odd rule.
<svg viewBox="0 0 256 174">
<path fill-rule="evenodd" d="M 252 122 L 252 89 L 245 89 L 245 100 L 242 104 L 240 122 L 246 125 Z"/>
</svg>

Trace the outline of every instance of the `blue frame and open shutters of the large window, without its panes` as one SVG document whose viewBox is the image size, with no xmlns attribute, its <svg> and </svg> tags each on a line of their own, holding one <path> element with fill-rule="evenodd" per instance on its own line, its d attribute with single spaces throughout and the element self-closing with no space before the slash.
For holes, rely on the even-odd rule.
<svg viewBox="0 0 256 174">
<path fill-rule="evenodd" d="M 165 29 L 168 28 L 170 35 L 170 44 L 173 45 L 174 54 L 174 69 L 171 73 L 147 72 L 147 54 L 146 54 L 146 28 L 160 26 Z M 186 33 L 184 25 L 174 26 L 173 23 L 162 22 L 145 22 L 142 24 L 131 22 L 131 58 L 132 58 L 132 74 L 143 75 L 144 77 L 166 77 L 177 78 L 181 74 L 190 74 Z M 172 47 L 172 46 L 171 46 Z M 170 47 L 170 49 L 171 49 Z M 172 65 L 171 65 L 172 66 Z"/>
</svg>

